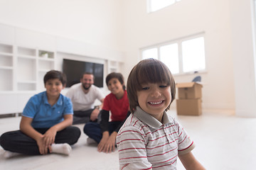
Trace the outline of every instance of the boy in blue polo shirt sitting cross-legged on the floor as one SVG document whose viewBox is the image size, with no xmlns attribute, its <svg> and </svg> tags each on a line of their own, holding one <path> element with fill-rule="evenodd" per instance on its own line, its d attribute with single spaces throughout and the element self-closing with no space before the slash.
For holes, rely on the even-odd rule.
<svg viewBox="0 0 256 170">
<path fill-rule="evenodd" d="M 46 91 L 32 96 L 23 110 L 20 130 L 6 132 L 0 137 L 4 157 L 16 154 L 70 154 L 70 145 L 78 142 L 80 129 L 71 126 L 73 108 L 70 98 L 60 94 L 66 77 L 51 70 L 43 78 Z"/>
</svg>

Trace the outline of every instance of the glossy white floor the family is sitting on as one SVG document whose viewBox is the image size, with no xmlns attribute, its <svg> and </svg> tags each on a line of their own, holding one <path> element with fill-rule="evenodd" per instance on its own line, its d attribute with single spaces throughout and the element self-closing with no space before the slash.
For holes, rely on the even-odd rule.
<svg viewBox="0 0 256 170">
<path fill-rule="evenodd" d="M 205 111 L 201 116 L 176 115 L 196 143 L 195 157 L 206 169 L 255 169 L 256 167 L 256 118 L 240 118 L 232 111 Z M 20 117 L 1 118 L 0 134 L 17 130 Z M 78 125 L 82 130 L 82 125 Z M 97 147 L 87 145 L 82 133 L 71 154 L 48 154 L 44 156 L 18 156 L 4 159 L 0 147 L 0 169 L 70 169 L 113 170 L 119 169 L 118 152 L 97 152 Z M 177 169 L 183 169 L 178 162 Z"/>
</svg>

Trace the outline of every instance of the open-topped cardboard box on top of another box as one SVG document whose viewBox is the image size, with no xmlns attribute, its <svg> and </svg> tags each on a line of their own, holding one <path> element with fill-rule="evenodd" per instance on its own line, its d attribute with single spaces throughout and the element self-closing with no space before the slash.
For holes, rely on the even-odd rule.
<svg viewBox="0 0 256 170">
<path fill-rule="evenodd" d="M 176 84 L 178 88 L 178 99 L 202 98 L 202 84 L 196 82 Z"/>
</svg>

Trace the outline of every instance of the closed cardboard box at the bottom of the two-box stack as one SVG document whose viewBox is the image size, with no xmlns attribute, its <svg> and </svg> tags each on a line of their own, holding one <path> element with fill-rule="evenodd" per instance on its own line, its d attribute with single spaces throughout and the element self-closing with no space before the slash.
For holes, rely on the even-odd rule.
<svg viewBox="0 0 256 170">
<path fill-rule="evenodd" d="M 201 115 L 202 100 L 197 99 L 177 99 L 176 100 L 177 115 Z"/>
</svg>

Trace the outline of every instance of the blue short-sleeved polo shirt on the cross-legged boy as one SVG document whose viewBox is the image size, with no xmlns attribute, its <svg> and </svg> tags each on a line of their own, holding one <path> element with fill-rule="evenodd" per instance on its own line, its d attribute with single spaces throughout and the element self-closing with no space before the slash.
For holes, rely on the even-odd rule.
<svg viewBox="0 0 256 170">
<path fill-rule="evenodd" d="M 32 118 L 33 128 L 50 128 L 64 120 L 63 116 L 73 114 L 70 98 L 60 94 L 57 103 L 50 106 L 46 91 L 32 96 L 23 110 L 22 115 Z"/>
</svg>

